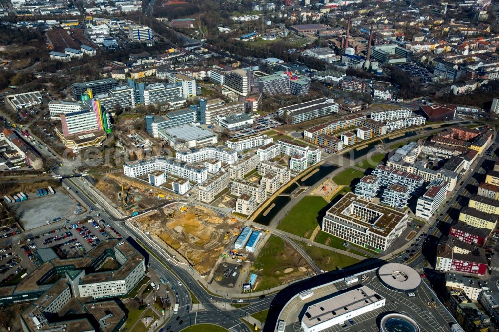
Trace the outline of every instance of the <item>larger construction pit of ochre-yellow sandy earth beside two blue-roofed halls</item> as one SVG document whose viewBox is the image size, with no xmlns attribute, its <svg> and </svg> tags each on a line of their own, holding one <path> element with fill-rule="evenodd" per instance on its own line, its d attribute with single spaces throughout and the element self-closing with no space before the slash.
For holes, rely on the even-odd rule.
<svg viewBox="0 0 499 332">
<path fill-rule="evenodd" d="M 229 252 L 242 223 L 199 205 L 170 204 L 135 218 L 134 223 L 165 248 L 182 256 L 201 275 Z"/>
</svg>

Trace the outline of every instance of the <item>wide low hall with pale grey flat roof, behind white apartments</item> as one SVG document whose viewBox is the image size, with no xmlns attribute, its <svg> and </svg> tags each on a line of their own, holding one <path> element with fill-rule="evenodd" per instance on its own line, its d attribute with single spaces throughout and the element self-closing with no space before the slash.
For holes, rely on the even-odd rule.
<svg viewBox="0 0 499 332">
<path fill-rule="evenodd" d="M 194 124 L 161 129 L 158 134 L 175 150 L 185 150 L 199 145 L 214 145 L 218 142 L 216 134 Z"/>
</svg>

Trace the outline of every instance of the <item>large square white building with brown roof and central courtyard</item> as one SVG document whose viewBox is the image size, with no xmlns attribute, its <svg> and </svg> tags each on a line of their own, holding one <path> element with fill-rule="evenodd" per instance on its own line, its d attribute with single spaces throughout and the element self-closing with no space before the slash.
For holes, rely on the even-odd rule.
<svg viewBox="0 0 499 332">
<path fill-rule="evenodd" d="M 362 247 L 387 250 L 407 227 L 405 213 L 347 193 L 323 218 L 322 230 Z"/>
</svg>

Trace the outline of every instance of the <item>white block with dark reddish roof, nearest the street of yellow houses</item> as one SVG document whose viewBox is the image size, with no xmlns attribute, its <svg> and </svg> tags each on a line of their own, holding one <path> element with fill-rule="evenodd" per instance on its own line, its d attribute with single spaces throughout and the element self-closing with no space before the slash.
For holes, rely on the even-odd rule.
<svg viewBox="0 0 499 332">
<path fill-rule="evenodd" d="M 443 179 L 434 179 L 426 187 L 426 192 L 418 198 L 416 216 L 425 220 L 435 215 L 438 207 L 445 200 L 449 183 Z"/>
</svg>

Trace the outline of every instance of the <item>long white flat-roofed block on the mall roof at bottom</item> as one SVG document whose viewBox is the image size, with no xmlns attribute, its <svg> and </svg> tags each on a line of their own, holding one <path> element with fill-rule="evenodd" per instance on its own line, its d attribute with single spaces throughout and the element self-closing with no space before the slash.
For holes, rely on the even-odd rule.
<svg viewBox="0 0 499 332">
<path fill-rule="evenodd" d="M 301 328 L 305 332 L 322 331 L 381 308 L 385 303 L 384 297 L 366 286 L 337 293 L 308 306 L 301 319 Z"/>
</svg>

